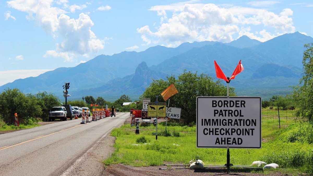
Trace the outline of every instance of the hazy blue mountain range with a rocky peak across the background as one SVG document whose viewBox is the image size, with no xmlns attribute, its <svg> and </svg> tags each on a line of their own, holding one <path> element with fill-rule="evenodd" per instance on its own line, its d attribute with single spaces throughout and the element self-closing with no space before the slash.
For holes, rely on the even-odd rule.
<svg viewBox="0 0 313 176">
<path fill-rule="evenodd" d="M 15 80 L 0 86 L 0 91 L 17 87 L 24 93 L 47 91 L 61 98 L 62 85 L 70 82 L 70 99 L 93 95 L 112 101 L 122 94 L 137 99 L 152 79 L 163 79 L 171 74 L 177 76 L 184 70 L 206 73 L 215 78 L 214 60 L 225 75 L 230 76 L 242 60 L 244 71 L 230 85 L 240 90 L 238 95 L 248 95 L 247 90 L 267 90 L 270 96 L 280 89 L 288 93 L 290 90 L 286 88 L 289 85 L 298 84 L 304 44 L 312 42 L 312 37 L 295 32 L 266 42 L 242 36 L 230 43 L 187 42 L 176 48 L 158 45 L 142 52 L 99 55 L 75 67 L 61 67 L 37 77 Z M 90 76 L 95 73 L 98 76 Z M 88 82 L 88 85 L 83 86 L 83 82 Z"/>
</svg>

